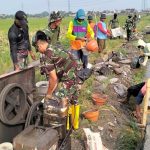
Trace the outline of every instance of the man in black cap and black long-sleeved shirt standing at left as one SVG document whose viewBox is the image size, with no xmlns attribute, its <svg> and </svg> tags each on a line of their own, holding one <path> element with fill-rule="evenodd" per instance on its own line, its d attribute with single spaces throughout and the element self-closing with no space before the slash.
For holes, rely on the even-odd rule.
<svg viewBox="0 0 150 150">
<path fill-rule="evenodd" d="M 27 15 L 23 11 L 17 11 L 14 24 L 8 31 L 10 44 L 10 55 L 13 61 L 14 70 L 24 69 L 28 65 L 28 53 L 35 60 L 29 40 Z"/>
</svg>

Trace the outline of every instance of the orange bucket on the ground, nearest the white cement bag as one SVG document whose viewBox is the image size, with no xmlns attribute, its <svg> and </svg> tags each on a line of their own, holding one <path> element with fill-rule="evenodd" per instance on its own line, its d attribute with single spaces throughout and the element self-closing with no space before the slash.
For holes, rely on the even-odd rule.
<svg viewBox="0 0 150 150">
<path fill-rule="evenodd" d="M 84 118 L 86 118 L 92 122 L 96 122 L 99 117 L 98 109 L 91 109 L 91 110 L 83 112 L 82 114 L 83 114 Z"/>
</svg>

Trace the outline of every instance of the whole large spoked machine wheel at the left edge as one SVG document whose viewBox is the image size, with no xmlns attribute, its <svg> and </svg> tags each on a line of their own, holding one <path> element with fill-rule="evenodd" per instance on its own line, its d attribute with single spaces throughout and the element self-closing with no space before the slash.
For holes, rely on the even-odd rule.
<svg viewBox="0 0 150 150">
<path fill-rule="evenodd" d="M 0 120 L 7 125 L 23 123 L 27 110 L 26 93 L 17 83 L 8 84 L 0 93 Z"/>
</svg>

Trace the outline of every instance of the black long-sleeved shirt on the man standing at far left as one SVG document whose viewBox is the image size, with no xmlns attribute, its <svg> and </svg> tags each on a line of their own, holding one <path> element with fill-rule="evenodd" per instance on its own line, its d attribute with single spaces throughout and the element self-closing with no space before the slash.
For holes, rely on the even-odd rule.
<svg viewBox="0 0 150 150">
<path fill-rule="evenodd" d="M 26 28 L 19 28 L 14 23 L 8 31 L 8 39 L 12 61 L 14 64 L 17 64 L 17 52 L 20 50 L 31 51 L 28 26 Z"/>
</svg>

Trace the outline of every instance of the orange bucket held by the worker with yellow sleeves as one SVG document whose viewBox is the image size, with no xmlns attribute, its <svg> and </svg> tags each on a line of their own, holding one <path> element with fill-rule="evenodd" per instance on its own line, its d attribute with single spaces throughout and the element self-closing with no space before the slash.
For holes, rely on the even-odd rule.
<svg viewBox="0 0 150 150">
<path fill-rule="evenodd" d="M 97 52 L 98 51 L 98 44 L 96 40 L 90 40 L 86 44 L 86 49 L 90 52 Z"/>
</svg>

